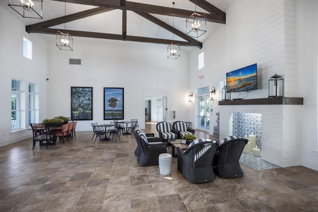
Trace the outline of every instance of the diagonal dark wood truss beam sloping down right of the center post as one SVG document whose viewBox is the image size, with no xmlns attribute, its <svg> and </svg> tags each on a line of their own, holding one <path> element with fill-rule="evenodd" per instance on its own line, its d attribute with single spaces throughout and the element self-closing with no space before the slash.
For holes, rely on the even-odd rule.
<svg viewBox="0 0 318 212">
<path fill-rule="evenodd" d="M 193 39 L 192 37 L 184 34 L 183 32 L 177 30 L 176 28 L 173 28 L 172 26 L 170 26 L 169 24 L 166 24 L 165 22 L 159 20 L 158 18 L 154 17 L 151 14 L 148 13 L 142 13 L 142 12 L 136 12 L 137 14 L 143 16 L 144 18 L 156 23 L 157 25 L 161 26 L 162 28 L 172 32 L 173 34 L 183 38 L 184 40 L 188 41 L 188 42 L 193 42 L 193 43 L 197 43 L 198 45 L 202 46 L 202 43 L 200 43 L 199 41 Z"/>
</svg>

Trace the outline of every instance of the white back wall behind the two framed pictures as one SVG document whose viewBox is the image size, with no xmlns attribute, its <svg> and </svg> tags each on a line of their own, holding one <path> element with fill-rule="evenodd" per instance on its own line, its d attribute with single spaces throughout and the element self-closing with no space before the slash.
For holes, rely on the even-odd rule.
<svg viewBox="0 0 318 212">
<path fill-rule="evenodd" d="M 144 127 L 144 97 L 150 91 L 167 96 L 168 111 L 177 110 L 180 119 L 189 119 L 184 105 L 188 94 L 189 55 L 166 58 L 166 46 L 128 41 L 74 37 L 74 51 L 61 51 L 55 39 L 48 44 L 48 117 L 70 116 L 70 87 L 93 87 L 93 120 L 79 121 L 77 130 L 91 130 L 92 122 L 103 120 L 103 88 L 124 88 L 124 119 L 137 118 Z M 182 51 L 182 49 L 181 49 Z M 69 58 L 81 65 L 69 65 Z M 145 94 L 147 93 L 147 94 Z M 155 102 L 154 102 L 155 104 Z M 167 121 L 172 122 L 171 117 Z"/>
</svg>

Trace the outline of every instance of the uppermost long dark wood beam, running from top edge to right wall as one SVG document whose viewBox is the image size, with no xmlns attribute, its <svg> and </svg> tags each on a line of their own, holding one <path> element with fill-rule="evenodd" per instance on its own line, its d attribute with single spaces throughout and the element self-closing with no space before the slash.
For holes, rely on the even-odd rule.
<svg viewBox="0 0 318 212">
<path fill-rule="evenodd" d="M 123 8 L 120 0 L 55 0 L 55 1 L 79 3 L 79 4 L 93 5 L 93 6 L 114 8 L 114 9 Z M 131 1 L 125 2 L 125 9 L 131 10 L 134 12 L 145 12 L 145 13 L 151 13 L 151 14 L 160 14 L 160 15 L 168 15 L 168 16 L 183 17 L 183 18 L 187 18 L 193 13 L 192 10 L 177 9 L 177 8 L 131 2 Z M 215 10 L 215 8 L 211 8 L 211 10 Z M 226 21 L 224 14 L 207 14 L 202 12 L 197 12 L 197 13 L 202 15 L 204 14 L 206 16 L 206 20 L 210 22 L 225 23 Z"/>
</svg>

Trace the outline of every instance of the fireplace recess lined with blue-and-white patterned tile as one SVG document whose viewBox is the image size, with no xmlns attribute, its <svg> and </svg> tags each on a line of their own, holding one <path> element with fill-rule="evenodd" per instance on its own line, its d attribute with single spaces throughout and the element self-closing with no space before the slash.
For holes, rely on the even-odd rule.
<svg viewBox="0 0 318 212">
<path fill-rule="evenodd" d="M 256 145 L 262 148 L 262 114 L 249 112 L 232 112 L 232 134 L 244 137 L 256 135 Z M 231 127 L 230 127 L 231 130 Z M 231 134 L 231 132 L 230 132 Z"/>
</svg>

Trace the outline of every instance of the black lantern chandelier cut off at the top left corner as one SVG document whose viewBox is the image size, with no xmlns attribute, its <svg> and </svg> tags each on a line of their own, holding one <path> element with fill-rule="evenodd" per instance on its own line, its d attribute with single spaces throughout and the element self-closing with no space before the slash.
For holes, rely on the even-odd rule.
<svg viewBox="0 0 318 212">
<path fill-rule="evenodd" d="M 43 19 L 42 4 L 43 0 L 9 0 L 8 6 L 24 18 Z"/>
</svg>

